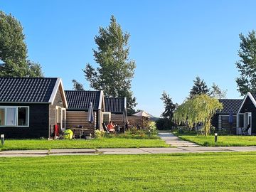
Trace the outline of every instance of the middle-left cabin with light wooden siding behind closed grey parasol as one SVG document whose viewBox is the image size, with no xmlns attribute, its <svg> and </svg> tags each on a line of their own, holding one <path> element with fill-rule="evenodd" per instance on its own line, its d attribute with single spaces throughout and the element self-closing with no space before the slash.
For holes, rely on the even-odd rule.
<svg viewBox="0 0 256 192">
<path fill-rule="evenodd" d="M 66 127 L 83 127 L 86 135 L 94 135 L 95 129 L 102 128 L 102 112 L 104 112 L 103 91 L 77 91 L 66 90 L 68 101 Z M 95 121 L 87 121 L 88 110 L 92 102 Z"/>
</svg>

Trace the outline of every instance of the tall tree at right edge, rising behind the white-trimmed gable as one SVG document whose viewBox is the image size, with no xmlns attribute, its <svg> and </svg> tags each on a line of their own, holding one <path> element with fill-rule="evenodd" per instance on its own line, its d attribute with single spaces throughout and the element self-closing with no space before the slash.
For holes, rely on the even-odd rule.
<svg viewBox="0 0 256 192">
<path fill-rule="evenodd" d="M 240 77 L 236 79 L 238 91 L 241 96 L 247 92 L 256 92 L 256 36 L 255 31 L 250 31 L 248 36 L 240 37 L 240 49 L 238 55 L 240 60 L 235 63 Z"/>
</svg>

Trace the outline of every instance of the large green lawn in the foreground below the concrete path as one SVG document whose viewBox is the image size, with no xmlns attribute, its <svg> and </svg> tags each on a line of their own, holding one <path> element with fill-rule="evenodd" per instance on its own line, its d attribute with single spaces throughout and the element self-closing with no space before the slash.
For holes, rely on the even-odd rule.
<svg viewBox="0 0 256 192">
<path fill-rule="evenodd" d="M 0 158 L 0 191 L 256 191 L 256 153 Z"/>
</svg>

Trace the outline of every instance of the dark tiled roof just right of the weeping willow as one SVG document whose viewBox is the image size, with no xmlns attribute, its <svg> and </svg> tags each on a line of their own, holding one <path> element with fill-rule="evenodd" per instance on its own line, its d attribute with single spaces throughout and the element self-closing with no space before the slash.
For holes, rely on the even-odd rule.
<svg viewBox="0 0 256 192">
<path fill-rule="evenodd" d="M 228 99 L 221 99 L 219 100 L 223 104 L 223 110 L 217 111 L 216 113 L 227 113 L 229 114 L 230 111 L 233 113 L 238 113 L 240 106 L 242 105 L 242 100 L 228 100 Z"/>
</svg>

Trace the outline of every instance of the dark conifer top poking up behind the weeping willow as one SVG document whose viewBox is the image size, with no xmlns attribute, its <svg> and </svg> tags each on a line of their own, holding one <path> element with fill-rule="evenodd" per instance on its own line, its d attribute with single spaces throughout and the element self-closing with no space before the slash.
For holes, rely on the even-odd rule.
<svg viewBox="0 0 256 192">
<path fill-rule="evenodd" d="M 201 95 L 201 94 L 208 94 L 209 89 L 206 85 L 206 82 L 204 80 L 201 80 L 198 76 L 196 77 L 196 80 L 193 81 L 194 85 L 190 91 L 189 97 L 193 98 L 196 95 Z"/>
</svg>

